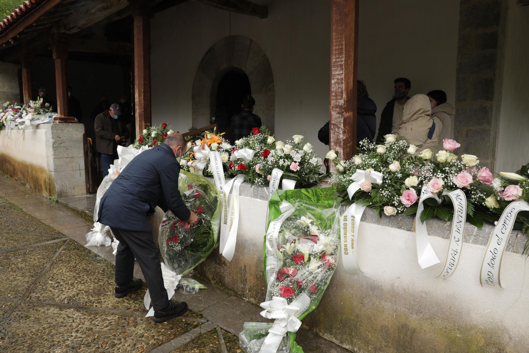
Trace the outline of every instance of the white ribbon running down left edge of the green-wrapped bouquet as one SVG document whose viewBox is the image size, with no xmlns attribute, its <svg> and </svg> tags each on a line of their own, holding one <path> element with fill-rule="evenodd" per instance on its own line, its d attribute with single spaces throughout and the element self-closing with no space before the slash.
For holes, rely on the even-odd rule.
<svg viewBox="0 0 529 353">
<path fill-rule="evenodd" d="M 266 278 L 268 286 L 275 280 L 277 272 L 279 271 L 277 261 L 277 237 L 279 236 L 279 230 L 281 224 L 294 212 L 294 206 L 290 205 L 288 201 L 283 200 L 279 206 L 281 215 L 270 222 L 268 226 L 268 232 L 266 233 Z"/>
</svg>

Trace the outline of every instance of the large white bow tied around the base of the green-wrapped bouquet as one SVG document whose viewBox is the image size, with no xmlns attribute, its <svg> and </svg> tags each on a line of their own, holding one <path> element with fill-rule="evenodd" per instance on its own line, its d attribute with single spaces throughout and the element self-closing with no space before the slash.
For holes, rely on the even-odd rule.
<svg viewBox="0 0 529 353">
<path fill-rule="evenodd" d="M 273 297 L 271 301 L 261 303 L 261 307 L 265 309 L 260 313 L 261 316 L 275 321 L 259 352 L 277 352 L 281 339 L 287 332 L 296 332 L 300 328 L 301 321 L 297 317 L 307 310 L 309 304 L 311 299 L 305 293 L 290 305 L 287 304 L 287 299 L 281 297 Z"/>
</svg>

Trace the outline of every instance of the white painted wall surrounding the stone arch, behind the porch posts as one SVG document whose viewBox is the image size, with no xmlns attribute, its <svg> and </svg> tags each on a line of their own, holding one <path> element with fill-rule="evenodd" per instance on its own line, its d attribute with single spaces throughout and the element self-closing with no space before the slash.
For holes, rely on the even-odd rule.
<svg viewBox="0 0 529 353">
<path fill-rule="evenodd" d="M 268 55 L 276 90 L 276 137 L 307 136 L 315 151 L 328 147 L 317 132 L 329 120 L 330 1 L 268 0 L 269 16 L 231 14 L 186 2 L 151 21 L 153 123 L 174 130 L 191 125 L 191 87 L 200 59 L 217 40 L 240 34 Z M 446 91 L 453 104 L 459 1 L 360 1 L 359 78 L 379 107 L 391 99 L 393 80 L 412 80 L 412 94 Z M 396 36 L 398 34 L 398 37 Z"/>
</svg>

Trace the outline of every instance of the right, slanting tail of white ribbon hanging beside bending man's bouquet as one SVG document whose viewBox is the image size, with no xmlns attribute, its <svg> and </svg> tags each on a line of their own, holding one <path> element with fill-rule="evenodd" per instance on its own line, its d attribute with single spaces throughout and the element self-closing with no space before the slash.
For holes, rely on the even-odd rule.
<svg viewBox="0 0 529 353">
<path fill-rule="evenodd" d="M 219 252 L 231 261 L 237 242 L 239 228 L 239 189 L 244 181 L 244 174 L 239 174 L 226 183 L 222 192 L 221 236 Z M 233 190 L 232 190 L 233 188 Z M 231 192 L 231 197 L 229 197 Z"/>
</svg>

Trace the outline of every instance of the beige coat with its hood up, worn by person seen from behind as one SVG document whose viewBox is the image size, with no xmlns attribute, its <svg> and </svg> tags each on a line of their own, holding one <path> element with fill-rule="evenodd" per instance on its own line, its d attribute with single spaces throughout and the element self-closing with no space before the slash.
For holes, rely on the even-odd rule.
<svg viewBox="0 0 529 353">
<path fill-rule="evenodd" d="M 393 134 L 405 137 L 409 143 L 417 147 L 424 144 L 416 154 L 426 148 L 436 153 L 435 149 L 439 141 L 438 131 L 442 131 L 443 124 L 439 118 L 432 119 L 431 115 L 432 109 L 428 97 L 425 94 L 416 94 L 404 104 L 403 124 L 393 131 Z M 435 132 L 432 139 L 428 139 L 428 131 L 434 121 Z"/>
</svg>

